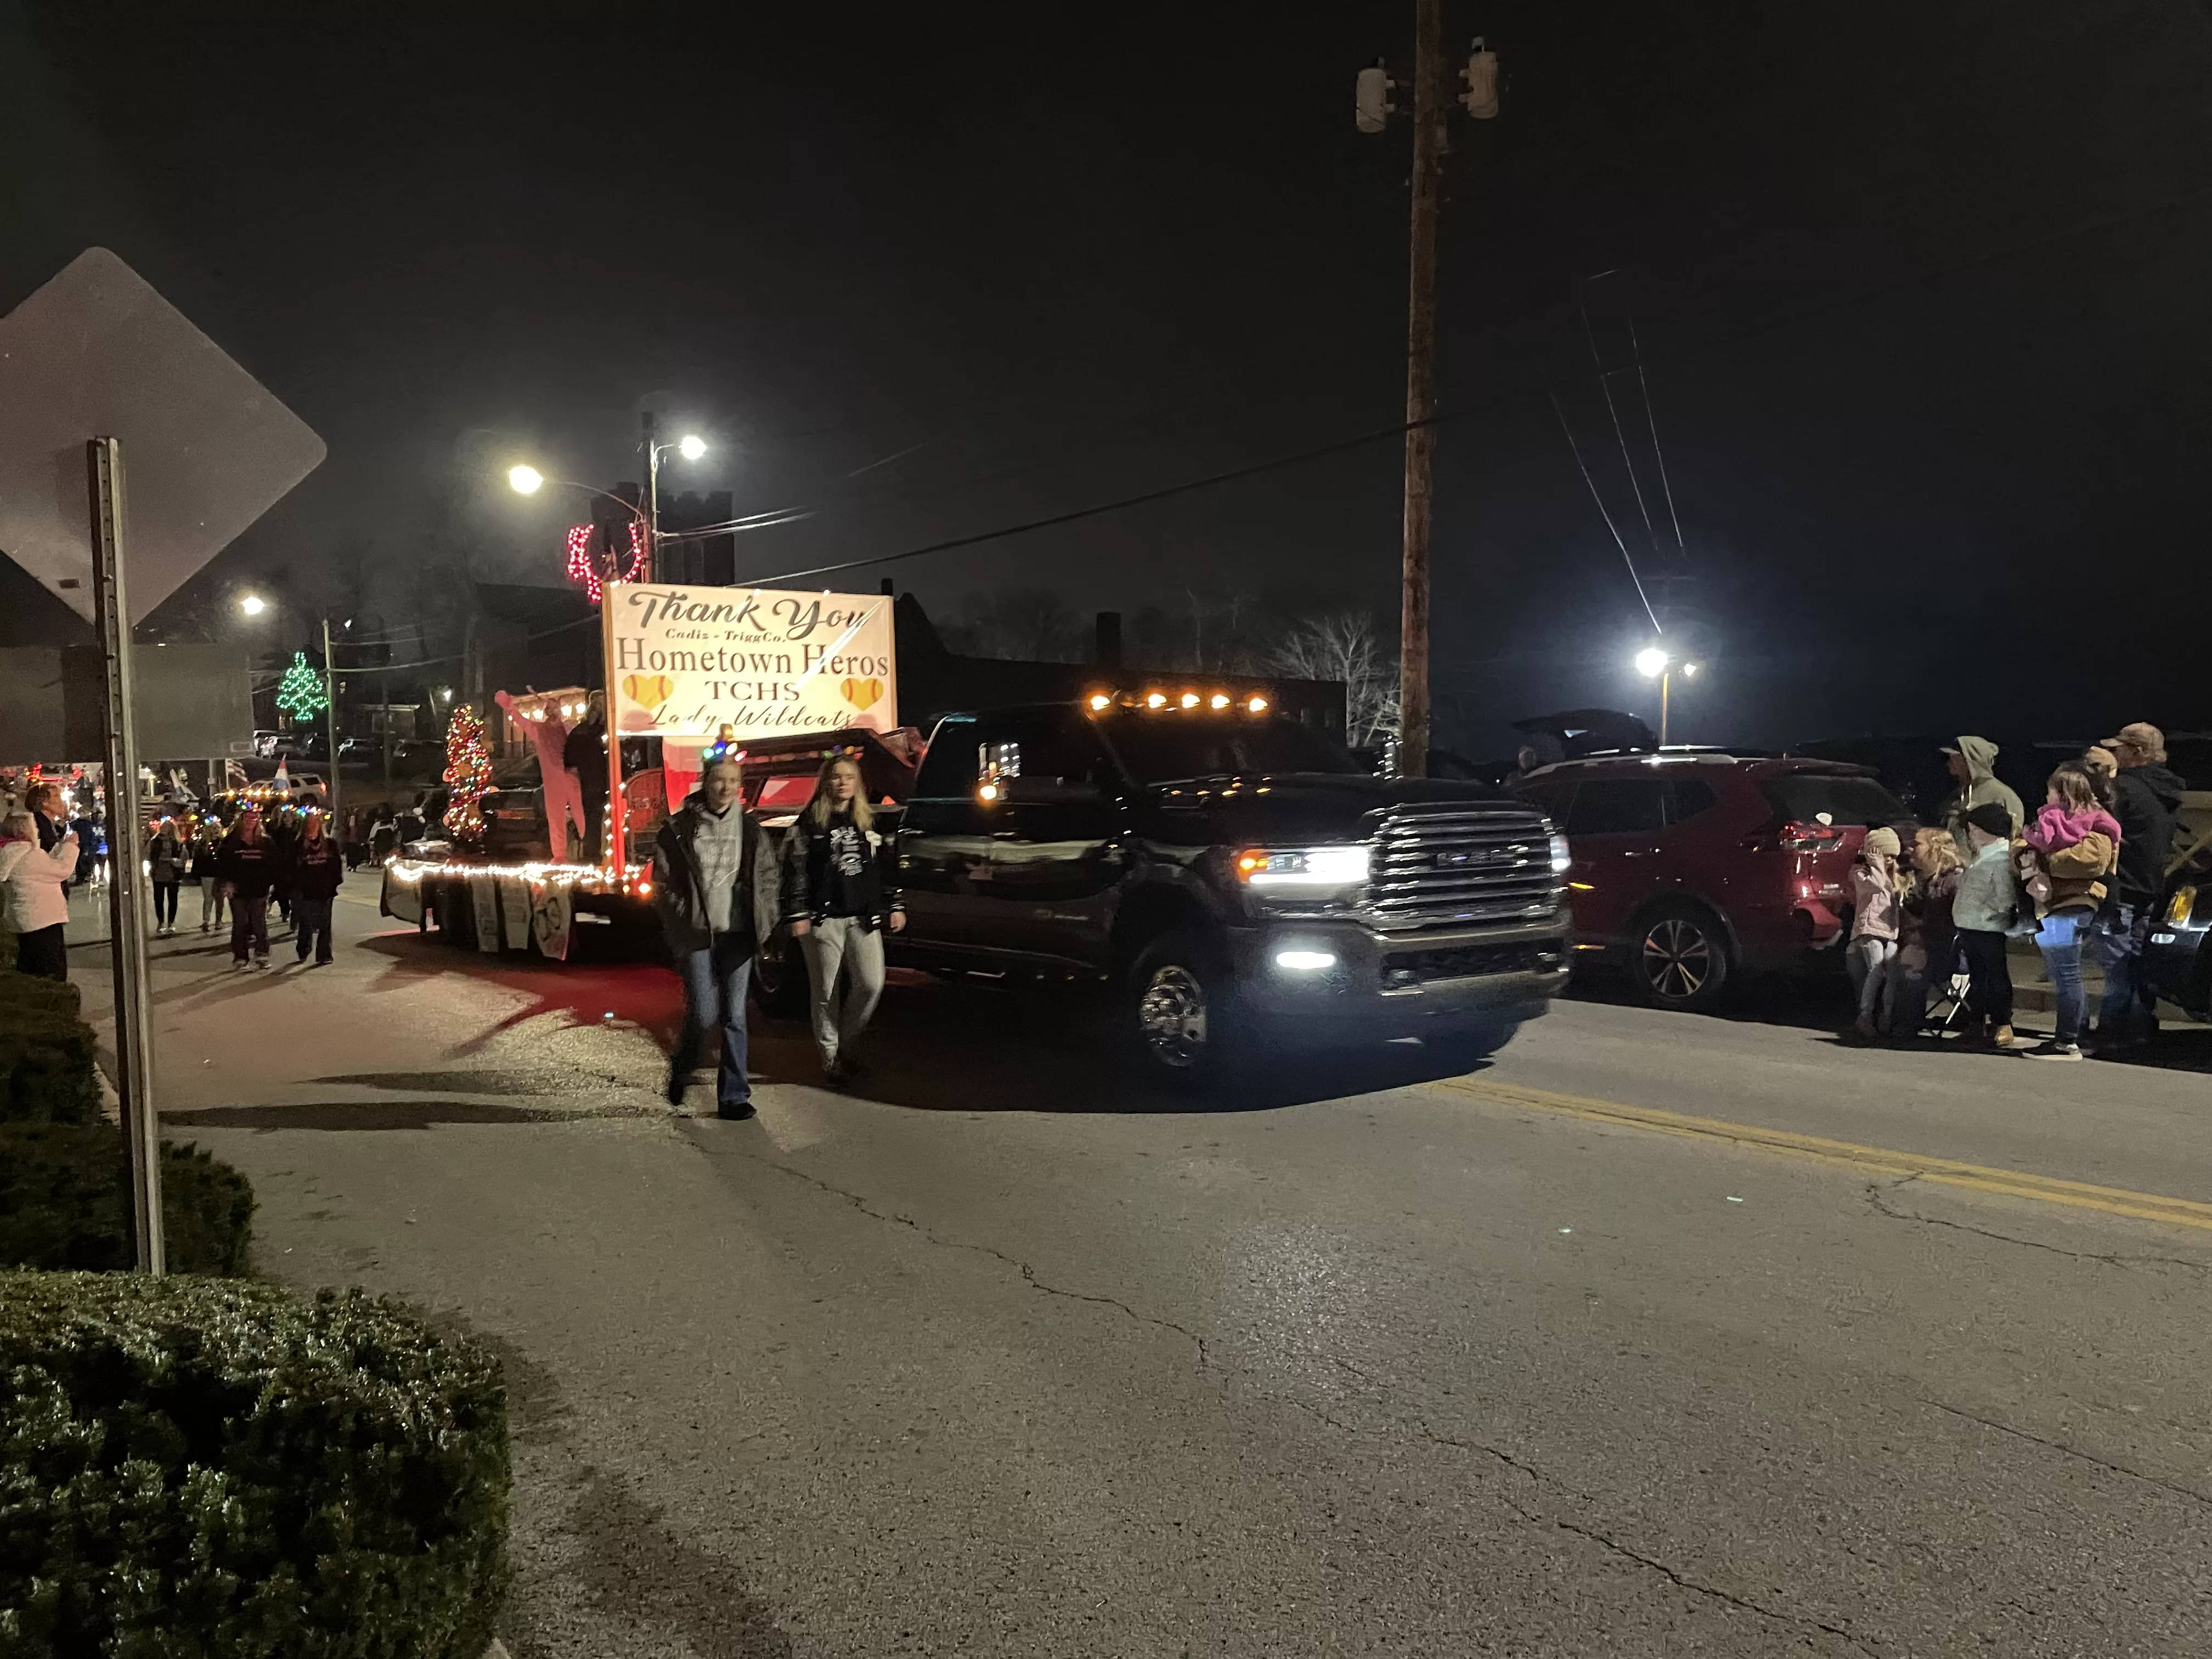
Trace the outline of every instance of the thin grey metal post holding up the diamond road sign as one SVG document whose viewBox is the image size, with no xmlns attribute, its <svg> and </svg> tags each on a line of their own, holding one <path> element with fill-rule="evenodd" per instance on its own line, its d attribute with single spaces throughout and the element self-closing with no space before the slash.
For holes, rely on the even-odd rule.
<svg viewBox="0 0 2212 1659">
<path fill-rule="evenodd" d="M 115 940 L 115 1093 L 131 1148 L 131 1221 L 139 1272 L 168 1272 L 161 1248 L 161 1119 L 153 1106 L 153 1006 L 146 995 L 146 827 L 131 730 L 131 606 L 124 597 L 124 458 L 113 438 L 84 445 L 93 507 L 93 617 L 106 661 L 108 933 Z"/>
</svg>

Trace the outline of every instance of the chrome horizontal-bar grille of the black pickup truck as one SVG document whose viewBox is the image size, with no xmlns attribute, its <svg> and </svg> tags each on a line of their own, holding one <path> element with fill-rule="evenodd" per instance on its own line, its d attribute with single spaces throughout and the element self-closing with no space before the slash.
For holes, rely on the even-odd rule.
<svg viewBox="0 0 2212 1659">
<path fill-rule="evenodd" d="M 1559 891 L 1544 818 L 1524 807 L 1400 805 L 1376 830 L 1367 909 L 1383 929 L 1533 922 Z"/>
</svg>

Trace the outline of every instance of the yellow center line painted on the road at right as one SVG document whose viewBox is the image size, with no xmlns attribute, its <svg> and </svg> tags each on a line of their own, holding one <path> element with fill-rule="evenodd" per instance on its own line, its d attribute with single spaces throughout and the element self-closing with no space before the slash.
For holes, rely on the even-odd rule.
<svg viewBox="0 0 2212 1659">
<path fill-rule="evenodd" d="M 1562 1117 L 1584 1117 L 1621 1128 L 1641 1128 L 1655 1135 L 1688 1135 L 1694 1139 L 1730 1141 L 1759 1152 L 1781 1157 L 1809 1157 L 1823 1164 L 1845 1164 L 1876 1175 L 1911 1177 L 1936 1186 L 1958 1186 L 1973 1192 L 2002 1192 L 2015 1199 L 2039 1203 L 2064 1203 L 2075 1210 L 2104 1210 L 2106 1214 L 2135 1217 L 2137 1221 L 2166 1221 L 2177 1228 L 2201 1228 L 2212 1232 L 2212 1203 L 2197 1199 L 2168 1199 L 2157 1192 L 2132 1192 L 2117 1186 L 2093 1186 L 2090 1181 L 2064 1181 L 2055 1175 L 2026 1175 L 2022 1170 L 2000 1170 L 1986 1164 L 1960 1164 L 1949 1157 L 1927 1157 L 1922 1152 L 1898 1152 L 1887 1146 L 1860 1146 L 1856 1141 L 1832 1141 L 1823 1135 L 1794 1135 L 1785 1128 L 1761 1128 L 1756 1124 L 1730 1124 L 1719 1117 L 1688 1117 L 1683 1113 L 1661 1113 L 1652 1106 L 1621 1106 L 1610 1099 L 1584 1099 L 1582 1095 L 1555 1095 L 1546 1088 L 1520 1088 L 1486 1077 L 1455 1077 L 1442 1084 L 1462 1095 L 1486 1099 L 1495 1106 L 1524 1106 L 1537 1113 Z"/>
</svg>

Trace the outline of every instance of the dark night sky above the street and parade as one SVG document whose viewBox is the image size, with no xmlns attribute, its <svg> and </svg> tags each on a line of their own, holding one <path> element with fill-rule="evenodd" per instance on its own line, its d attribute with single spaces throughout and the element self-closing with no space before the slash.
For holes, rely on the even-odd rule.
<svg viewBox="0 0 2212 1659">
<path fill-rule="evenodd" d="M 633 478 L 644 407 L 717 445 L 664 487 L 823 509 L 741 577 L 1402 418 L 1409 135 L 1358 135 L 1352 77 L 1407 62 L 1409 0 L 588 15 L 0 7 L 0 307 L 111 246 L 330 442 L 208 582 L 427 524 L 555 582 L 575 513 L 500 473 Z M 1451 0 L 1447 31 L 1506 86 L 1447 173 L 1440 741 L 1650 701 L 1551 403 L 1661 568 L 1584 310 L 1608 363 L 1635 323 L 1694 577 L 1677 737 L 2212 726 L 2212 9 Z M 1398 489 L 1385 440 L 838 582 L 1394 619 Z"/>
</svg>

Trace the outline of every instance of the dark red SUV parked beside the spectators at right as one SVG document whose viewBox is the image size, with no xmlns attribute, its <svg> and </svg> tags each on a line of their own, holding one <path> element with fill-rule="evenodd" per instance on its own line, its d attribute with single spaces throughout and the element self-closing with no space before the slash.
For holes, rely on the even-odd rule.
<svg viewBox="0 0 2212 1659">
<path fill-rule="evenodd" d="M 1858 843 L 1911 814 L 1858 765 L 1659 752 L 1562 761 L 1513 790 L 1566 830 L 1575 949 L 1646 1002 L 1705 1009 L 1739 969 L 1820 960 Z"/>
</svg>

